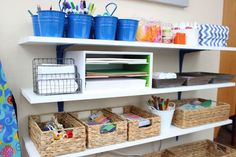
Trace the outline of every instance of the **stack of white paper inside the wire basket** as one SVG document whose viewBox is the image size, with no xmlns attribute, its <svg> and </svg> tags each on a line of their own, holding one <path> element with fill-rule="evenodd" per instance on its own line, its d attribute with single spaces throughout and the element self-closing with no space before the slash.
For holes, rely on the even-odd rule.
<svg viewBox="0 0 236 157">
<path fill-rule="evenodd" d="M 38 93 L 74 93 L 78 89 L 75 71 L 74 65 L 39 65 L 37 67 Z"/>
</svg>

